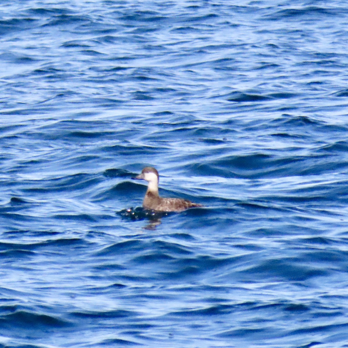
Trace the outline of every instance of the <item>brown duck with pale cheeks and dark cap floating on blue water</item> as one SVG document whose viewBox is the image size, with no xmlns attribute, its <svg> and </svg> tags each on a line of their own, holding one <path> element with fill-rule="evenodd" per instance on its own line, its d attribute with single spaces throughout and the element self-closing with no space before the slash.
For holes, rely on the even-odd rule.
<svg viewBox="0 0 348 348">
<path fill-rule="evenodd" d="M 193 203 L 182 198 L 164 198 L 158 194 L 159 174 L 153 167 L 145 167 L 141 174 L 133 177 L 135 180 L 145 180 L 148 182 L 148 189 L 143 200 L 143 208 L 159 212 L 183 212 L 189 208 L 203 207 L 198 203 Z"/>
</svg>

